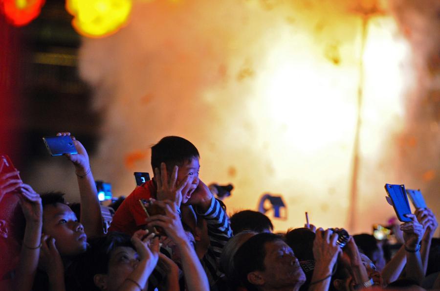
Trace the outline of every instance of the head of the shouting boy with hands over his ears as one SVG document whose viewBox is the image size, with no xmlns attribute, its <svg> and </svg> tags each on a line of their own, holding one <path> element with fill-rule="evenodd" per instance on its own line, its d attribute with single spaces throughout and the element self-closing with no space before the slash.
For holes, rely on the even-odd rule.
<svg viewBox="0 0 440 291">
<path fill-rule="evenodd" d="M 200 169 L 199 158 L 197 148 L 190 141 L 179 136 L 166 136 L 151 148 L 153 172 L 155 168 L 160 170 L 160 164 L 165 163 L 168 175 L 171 175 L 174 166 L 179 167 L 177 182 L 185 179 L 187 175 L 194 177 L 190 179 L 191 187 L 186 193 L 182 193 L 182 203 L 186 203 L 197 188 Z"/>
</svg>

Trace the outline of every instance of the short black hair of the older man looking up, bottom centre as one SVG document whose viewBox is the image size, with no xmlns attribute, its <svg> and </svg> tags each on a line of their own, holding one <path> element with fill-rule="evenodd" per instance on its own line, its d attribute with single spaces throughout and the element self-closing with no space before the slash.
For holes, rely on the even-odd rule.
<svg viewBox="0 0 440 291">
<path fill-rule="evenodd" d="M 266 250 L 264 245 L 274 241 L 282 241 L 282 237 L 278 234 L 262 232 L 249 238 L 237 250 L 234 256 L 234 266 L 236 270 L 236 278 L 232 278 L 232 282 L 240 282 L 249 291 L 257 290 L 256 287 L 247 280 L 247 274 L 252 271 L 264 271 L 264 258 Z M 236 287 L 236 286 L 234 286 Z"/>
</svg>

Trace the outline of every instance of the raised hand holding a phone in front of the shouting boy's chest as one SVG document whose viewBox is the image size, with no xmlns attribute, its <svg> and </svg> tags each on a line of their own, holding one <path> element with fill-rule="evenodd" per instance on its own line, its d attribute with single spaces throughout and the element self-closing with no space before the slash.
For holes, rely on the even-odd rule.
<svg viewBox="0 0 440 291">
<path fill-rule="evenodd" d="M 183 230 L 180 216 L 177 213 L 177 206 L 173 201 L 153 201 L 153 203 L 162 207 L 165 210 L 166 215 L 153 215 L 147 218 L 145 221 L 148 226 L 160 226 L 165 230 L 165 233 L 176 244 L 179 244 L 182 240 L 187 240 L 185 231 Z"/>
</svg>

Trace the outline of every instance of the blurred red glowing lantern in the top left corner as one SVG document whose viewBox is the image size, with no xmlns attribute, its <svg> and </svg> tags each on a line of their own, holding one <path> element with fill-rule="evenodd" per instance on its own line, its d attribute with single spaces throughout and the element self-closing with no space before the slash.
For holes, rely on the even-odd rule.
<svg viewBox="0 0 440 291">
<path fill-rule="evenodd" d="M 0 0 L 0 10 L 8 22 L 15 26 L 23 26 L 40 14 L 44 0 Z"/>
</svg>

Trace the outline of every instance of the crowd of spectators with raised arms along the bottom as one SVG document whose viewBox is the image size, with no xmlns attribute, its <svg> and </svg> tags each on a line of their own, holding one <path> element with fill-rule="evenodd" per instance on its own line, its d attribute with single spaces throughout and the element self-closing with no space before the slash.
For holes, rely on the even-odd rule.
<svg viewBox="0 0 440 291">
<path fill-rule="evenodd" d="M 154 178 L 115 206 L 107 231 L 87 151 L 72 140 L 78 154 L 66 157 L 78 180 L 79 212 L 63 193 L 36 193 L 16 178 L 18 171 L 0 177 L 0 205 L 17 197 L 25 219 L 19 260 L 0 274 L 3 288 L 440 289 L 438 222 L 429 208 L 408 214 L 410 222 L 395 229 L 400 247 L 392 255 L 373 235 L 352 236 L 340 228 L 306 224 L 275 234 L 260 212 L 229 218 L 199 179 L 197 148 L 177 136 L 152 147 Z"/>
</svg>

